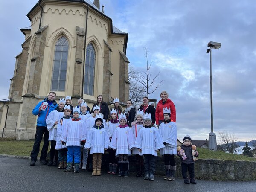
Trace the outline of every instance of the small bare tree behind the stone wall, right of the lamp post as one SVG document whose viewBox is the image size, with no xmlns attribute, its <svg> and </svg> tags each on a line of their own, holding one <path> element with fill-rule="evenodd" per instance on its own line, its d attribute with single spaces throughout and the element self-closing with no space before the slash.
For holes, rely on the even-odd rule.
<svg viewBox="0 0 256 192">
<path fill-rule="evenodd" d="M 220 131 L 218 133 L 218 138 L 219 138 L 220 145 L 223 146 L 225 151 L 233 154 L 237 154 L 239 152 L 237 150 L 239 145 L 236 143 L 237 137 L 234 133 L 228 133 L 227 131 Z"/>
</svg>

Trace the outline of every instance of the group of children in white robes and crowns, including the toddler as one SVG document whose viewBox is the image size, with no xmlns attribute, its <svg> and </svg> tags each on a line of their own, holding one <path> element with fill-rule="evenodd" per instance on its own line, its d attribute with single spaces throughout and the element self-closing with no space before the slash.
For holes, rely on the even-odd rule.
<svg viewBox="0 0 256 192">
<path fill-rule="evenodd" d="M 114 108 L 106 122 L 99 106 L 94 106 L 90 114 L 84 100 L 73 108 L 70 96 L 60 99 L 58 107 L 46 119 L 51 141 L 48 166 L 56 166 L 59 161 L 58 168 L 64 172 L 73 168 L 74 172 L 79 172 L 79 165 L 82 163 L 82 169 L 86 169 L 88 156 L 92 154 L 92 175 L 101 175 L 102 154 L 108 151 L 108 174 L 116 174 L 119 169 L 119 176 L 128 177 L 128 156 L 136 155 L 136 176 L 154 180 L 155 160 L 159 153 L 164 156 L 164 179 L 172 181 L 175 179 L 174 157 L 177 154 L 181 157 L 184 183 L 196 184 L 191 137 L 184 137 L 182 150 L 177 151 L 177 126 L 170 119 L 170 113 L 169 108 L 163 109 L 164 121 L 157 128 L 152 125 L 151 114 L 139 110 L 130 128 L 125 114 Z M 198 157 L 198 152 L 195 151 L 194 155 Z"/>
</svg>

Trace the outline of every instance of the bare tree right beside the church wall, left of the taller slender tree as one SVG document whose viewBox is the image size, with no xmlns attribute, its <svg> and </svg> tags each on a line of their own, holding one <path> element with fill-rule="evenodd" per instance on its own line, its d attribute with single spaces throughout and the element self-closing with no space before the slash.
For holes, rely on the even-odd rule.
<svg viewBox="0 0 256 192">
<path fill-rule="evenodd" d="M 128 81 L 130 82 L 129 97 L 133 105 L 139 107 L 145 88 L 138 82 L 137 76 L 140 72 L 135 71 L 133 67 L 129 66 Z"/>
</svg>

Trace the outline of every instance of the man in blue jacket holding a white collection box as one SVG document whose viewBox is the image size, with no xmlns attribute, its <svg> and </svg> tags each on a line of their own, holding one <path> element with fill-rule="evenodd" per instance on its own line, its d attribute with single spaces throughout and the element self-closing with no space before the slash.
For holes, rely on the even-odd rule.
<svg viewBox="0 0 256 192">
<path fill-rule="evenodd" d="M 48 146 L 49 146 L 49 131 L 47 130 L 47 125 L 46 125 L 46 118 L 49 115 L 49 113 L 58 106 L 57 102 L 54 100 L 56 96 L 55 92 L 50 92 L 48 97 L 45 98 L 43 101 L 39 102 L 38 105 L 35 106 L 33 109 L 32 113 L 33 115 L 38 115 L 37 119 L 37 125 L 36 125 L 36 132 L 35 132 L 35 143 L 33 146 L 33 149 L 31 151 L 30 157 L 30 165 L 35 166 L 35 162 L 37 160 L 37 156 L 40 150 L 40 143 L 44 135 L 44 145 L 41 150 L 41 156 L 40 156 L 40 163 L 43 165 L 46 165 L 47 162 L 45 161 L 47 151 L 48 151 Z M 46 109 L 43 111 L 41 110 L 43 102 L 47 102 L 48 105 Z"/>
</svg>

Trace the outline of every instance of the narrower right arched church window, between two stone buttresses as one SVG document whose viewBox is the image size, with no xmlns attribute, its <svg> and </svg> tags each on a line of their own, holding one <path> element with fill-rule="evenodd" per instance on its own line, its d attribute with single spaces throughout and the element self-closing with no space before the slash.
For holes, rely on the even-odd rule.
<svg viewBox="0 0 256 192">
<path fill-rule="evenodd" d="M 86 48 L 86 61 L 84 72 L 84 94 L 93 95 L 94 73 L 95 73 L 95 49 L 93 44 L 88 44 Z"/>
</svg>

